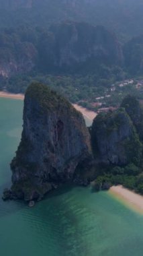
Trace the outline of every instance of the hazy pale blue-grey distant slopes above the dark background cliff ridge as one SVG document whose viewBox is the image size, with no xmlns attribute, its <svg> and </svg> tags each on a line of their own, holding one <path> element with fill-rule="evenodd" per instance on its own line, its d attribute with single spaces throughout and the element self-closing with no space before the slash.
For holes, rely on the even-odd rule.
<svg viewBox="0 0 143 256">
<path fill-rule="evenodd" d="M 0 0 L 0 24 L 47 27 L 70 19 L 106 26 L 127 40 L 142 34 L 142 11 L 141 0 Z"/>
</svg>

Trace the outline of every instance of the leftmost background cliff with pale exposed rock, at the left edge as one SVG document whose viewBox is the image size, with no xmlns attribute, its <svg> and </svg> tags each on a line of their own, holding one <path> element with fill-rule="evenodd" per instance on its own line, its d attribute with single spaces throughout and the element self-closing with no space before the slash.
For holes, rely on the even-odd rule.
<svg viewBox="0 0 143 256">
<path fill-rule="evenodd" d="M 0 75 L 9 77 L 13 73 L 28 72 L 34 68 L 37 51 L 33 44 L 11 40 L 11 36 L 7 36 L 5 43 L 2 33 L 0 40 Z"/>
</svg>

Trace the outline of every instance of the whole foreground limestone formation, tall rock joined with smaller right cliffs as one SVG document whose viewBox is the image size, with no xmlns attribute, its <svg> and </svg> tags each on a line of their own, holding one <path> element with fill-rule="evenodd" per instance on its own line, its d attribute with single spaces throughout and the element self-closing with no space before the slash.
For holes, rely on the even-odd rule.
<svg viewBox="0 0 143 256">
<path fill-rule="evenodd" d="M 40 200 L 69 182 L 88 185 L 95 180 L 98 189 L 111 184 L 138 187 L 142 108 L 131 96 L 122 106 L 100 113 L 87 129 L 83 116 L 68 100 L 48 86 L 31 84 L 24 100 L 21 142 L 11 161 L 13 184 L 3 199 Z M 130 175 L 135 177 L 132 184 Z"/>
</svg>

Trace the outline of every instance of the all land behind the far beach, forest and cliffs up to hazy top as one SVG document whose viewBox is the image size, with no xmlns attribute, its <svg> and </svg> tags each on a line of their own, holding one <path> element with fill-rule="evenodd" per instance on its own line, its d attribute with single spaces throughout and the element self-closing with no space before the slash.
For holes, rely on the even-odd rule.
<svg viewBox="0 0 143 256">
<path fill-rule="evenodd" d="M 91 107 L 116 82 L 142 78 L 142 11 L 141 0 L 0 0 L 0 89 L 25 92 L 36 80 Z"/>
</svg>

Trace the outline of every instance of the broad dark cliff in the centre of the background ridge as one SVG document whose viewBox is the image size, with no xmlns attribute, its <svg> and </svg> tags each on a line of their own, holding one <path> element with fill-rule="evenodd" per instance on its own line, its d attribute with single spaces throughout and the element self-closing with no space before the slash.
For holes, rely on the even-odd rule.
<svg viewBox="0 0 143 256">
<path fill-rule="evenodd" d="M 51 26 L 54 34 L 54 65 L 64 66 L 89 61 L 93 65 L 101 63 L 121 64 L 122 47 L 117 38 L 103 26 L 86 23 L 64 22 Z"/>
</svg>

